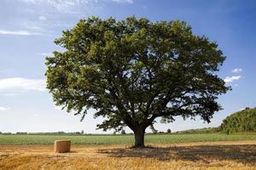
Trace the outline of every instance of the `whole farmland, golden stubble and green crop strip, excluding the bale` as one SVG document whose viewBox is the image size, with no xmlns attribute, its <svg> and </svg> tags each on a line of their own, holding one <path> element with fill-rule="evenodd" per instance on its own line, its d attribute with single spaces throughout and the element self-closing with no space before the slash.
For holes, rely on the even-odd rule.
<svg viewBox="0 0 256 170">
<path fill-rule="evenodd" d="M 71 152 L 54 153 L 55 139 L 71 139 Z M 131 149 L 133 140 L 133 135 L 0 135 L 0 170 L 256 170 L 254 133 L 150 134 L 145 149 Z"/>
</svg>

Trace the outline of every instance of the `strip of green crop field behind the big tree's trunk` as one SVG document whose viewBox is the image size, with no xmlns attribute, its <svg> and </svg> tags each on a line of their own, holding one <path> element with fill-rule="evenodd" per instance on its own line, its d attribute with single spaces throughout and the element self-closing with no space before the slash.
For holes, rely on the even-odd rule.
<svg viewBox="0 0 256 170">
<path fill-rule="evenodd" d="M 56 139 L 71 139 L 73 144 L 133 144 L 133 135 L 0 135 L 0 144 L 53 144 Z M 152 134 L 145 144 L 255 140 L 255 134 Z"/>
</svg>

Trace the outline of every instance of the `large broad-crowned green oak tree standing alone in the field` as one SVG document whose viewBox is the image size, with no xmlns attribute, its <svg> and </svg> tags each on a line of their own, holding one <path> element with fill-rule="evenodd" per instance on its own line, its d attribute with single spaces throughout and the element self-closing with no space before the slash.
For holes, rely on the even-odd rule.
<svg viewBox="0 0 256 170">
<path fill-rule="evenodd" d="M 229 88 L 216 74 L 224 55 L 216 42 L 196 36 L 182 21 L 80 20 L 55 43 L 65 50 L 46 59 L 47 88 L 55 105 L 87 110 L 105 121 L 98 128 L 128 126 L 135 147 L 157 117 L 161 122 L 201 116 L 210 122 Z"/>
</svg>

